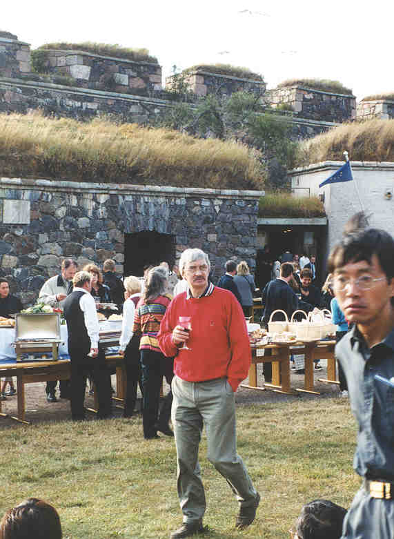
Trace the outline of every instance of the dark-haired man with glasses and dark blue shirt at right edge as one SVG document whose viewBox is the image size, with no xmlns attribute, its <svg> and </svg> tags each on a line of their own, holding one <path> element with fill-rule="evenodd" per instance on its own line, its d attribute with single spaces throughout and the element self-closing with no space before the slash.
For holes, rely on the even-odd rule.
<svg viewBox="0 0 394 539">
<path fill-rule="evenodd" d="M 348 229 L 329 268 L 339 308 L 353 327 L 335 355 L 359 424 L 355 471 L 363 478 L 342 539 L 394 537 L 394 239 Z"/>
</svg>

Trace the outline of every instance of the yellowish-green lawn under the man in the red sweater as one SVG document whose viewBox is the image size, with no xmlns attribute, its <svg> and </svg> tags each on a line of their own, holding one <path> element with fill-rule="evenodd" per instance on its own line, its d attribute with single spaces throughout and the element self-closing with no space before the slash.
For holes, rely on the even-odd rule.
<svg viewBox="0 0 394 539">
<path fill-rule="evenodd" d="M 302 504 L 348 507 L 355 421 L 348 400 L 321 398 L 237 406 L 238 449 L 262 495 L 255 523 L 235 530 L 237 502 L 206 460 L 204 524 L 213 539 L 288 538 Z M 166 538 L 181 524 L 175 444 L 144 440 L 141 418 L 47 422 L 3 430 L 1 515 L 29 496 L 59 511 L 63 538 Z"/>
</svg>

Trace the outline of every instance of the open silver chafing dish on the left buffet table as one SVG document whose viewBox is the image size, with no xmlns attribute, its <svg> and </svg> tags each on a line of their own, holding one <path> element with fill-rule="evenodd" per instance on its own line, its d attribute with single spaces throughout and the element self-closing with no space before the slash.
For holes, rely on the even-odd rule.
<svg viewBox="0 0 394 539">
<path fill-rule="evenodd" d="M 15 319 L 17 361 L 21 361 L 23 353 L 52 353 L 52 360 L 57 360 L 61 342 L 59 313 L 17 313 Z"/>
</svg>

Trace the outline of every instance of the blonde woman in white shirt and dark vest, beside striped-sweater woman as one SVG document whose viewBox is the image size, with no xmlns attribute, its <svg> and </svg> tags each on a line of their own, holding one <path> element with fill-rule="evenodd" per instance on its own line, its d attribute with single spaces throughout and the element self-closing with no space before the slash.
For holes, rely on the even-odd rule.
<svg viewBox="0 0 394 539">
<path fill-rule="evenodd" d="M 131 418 L 137 402 L 137 384 L 141 394 L 141 365 L 139 357 L 139 335 L 132 333 L 134 324 L 135 308 L 141 298 L 141 281 L 134 275 L 129 275 L 124 280 L 125 302 L 123 304 L 123 320 L 121 324 L 121 336 L 119 339 L 119 354 L 124 356 L 124 366 L 126 369 L 126 399 L 124 403 L 124 418 Z"/>
</svg>

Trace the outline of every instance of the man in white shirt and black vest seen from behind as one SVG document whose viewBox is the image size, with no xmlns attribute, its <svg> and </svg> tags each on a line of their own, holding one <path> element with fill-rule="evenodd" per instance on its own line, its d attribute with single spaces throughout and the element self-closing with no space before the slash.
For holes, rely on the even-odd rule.
<svg viewBox="0 0 394 539">
<path fill-rule="evenodd" d="M 95 382 L 99 398 L 100 419 L 111 415 L 112 398 L 110 372 L 106 367 L 104 351 L 99 349 L 99 319 L 95 300 L 90 294 L 92 275 L 78 271 L 72 279 L 74 289 L 63 303 L 68 329 L 68 353 L 71 360 L 71 416 L 85 419 L 83 401 L 86 377 Z"/>
</svg>

